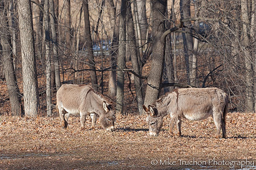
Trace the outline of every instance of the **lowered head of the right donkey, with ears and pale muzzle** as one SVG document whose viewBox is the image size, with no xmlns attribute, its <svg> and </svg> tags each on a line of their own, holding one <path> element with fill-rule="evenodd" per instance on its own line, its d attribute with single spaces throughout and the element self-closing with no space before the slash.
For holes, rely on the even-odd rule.
<svg viewBox="0 0 256 170">
<path fill-rule="evenodd" d="M 148 105 L 148 108 L 143 105 L 143 109 L 147 113 L 146 121 L 150 131 L 150 136 L 157 137 L 163 126 L 163 117 L 159 116 L 158 109 L 153 108 L 151 105 Z"/>
</svg>

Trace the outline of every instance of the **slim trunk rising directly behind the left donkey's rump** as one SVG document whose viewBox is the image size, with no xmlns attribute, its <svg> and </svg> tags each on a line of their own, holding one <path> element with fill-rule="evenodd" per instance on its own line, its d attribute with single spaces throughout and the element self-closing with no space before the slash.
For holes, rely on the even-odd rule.
<svg viewBox="0 0 256 170">
<path fill-rule="evenodd" d="M 60 67 L 59 67 L 59 53 L 58 53 L 58 39 L 57 39 L 57 19 L 54 9 L 54 1 L 49 0 L 50 6 L 50 22 L 51 22 L 51 32 L 52 32 L 52 48 L 53 48 L 53 65 L 55 72 L 55 86 L 56 90 L 59 90 L 60 84 Z"/>
</svg>

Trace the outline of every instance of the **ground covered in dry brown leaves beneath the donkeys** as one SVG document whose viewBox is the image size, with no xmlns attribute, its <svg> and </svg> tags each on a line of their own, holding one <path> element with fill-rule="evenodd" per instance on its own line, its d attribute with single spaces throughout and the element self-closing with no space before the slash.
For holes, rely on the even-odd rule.
<svg viewBox="0 0 256 170">
<path fill-rule="evenodd" d="M 214 138 L 212 118 L 183 120 L 182 137 L 168 134 L 169 120 L 150 137 L 145 116 L 117 115 L 113 133 L 91 130 L 89 117 L 85 130 L 79 116 L 65 130 L 57 116 L 0 116 L 0 169 L 241 169 L 246 159 L 256 168 L 256 114 L 229 113 L 226 139 Z"/>
</svg>

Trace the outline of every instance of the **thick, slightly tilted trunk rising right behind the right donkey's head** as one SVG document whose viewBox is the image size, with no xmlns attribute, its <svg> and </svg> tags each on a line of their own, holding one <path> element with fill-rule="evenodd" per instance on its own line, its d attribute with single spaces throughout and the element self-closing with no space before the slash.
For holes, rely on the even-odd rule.
<svg viewBox="0 0 256 170">
<path fill-rule="evenodd" d="M 150 105 L 158 98 L 160 83 L 163 75 L 163 62 L 165 53 L 164 13 L 167 1 L 152 1 L 152 65 L 147 78 L 147 91 L 144 105 Z"/>
</svg>

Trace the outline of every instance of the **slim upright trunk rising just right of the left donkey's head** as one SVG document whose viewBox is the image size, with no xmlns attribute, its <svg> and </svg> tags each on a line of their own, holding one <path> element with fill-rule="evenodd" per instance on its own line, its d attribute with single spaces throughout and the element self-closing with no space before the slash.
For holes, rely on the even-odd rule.
<svg viewBox="0 0 256 170">
<path fill-rule="evenodd" d="M 123 113 L 123 88 L 125 82 L 125 52 L 126 52 L 126 9 L 127 0 L 122 0 L 121 2 L 121 15 L 119 16 L 119 46 L 118 46 L 118 56 L 117 56 L 117 105 L 115 109 Z"/>
</svg>

